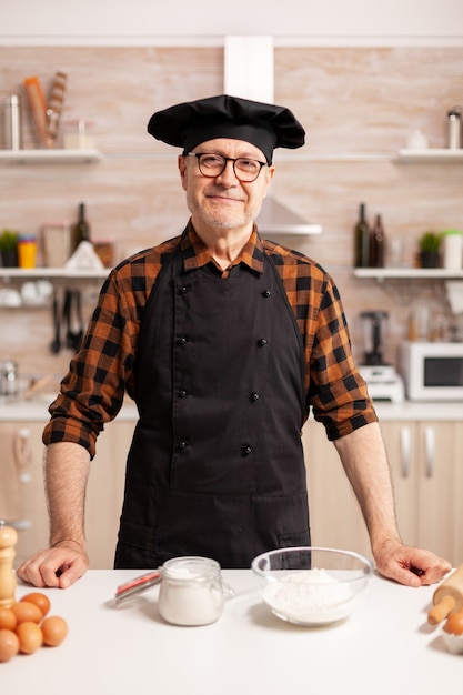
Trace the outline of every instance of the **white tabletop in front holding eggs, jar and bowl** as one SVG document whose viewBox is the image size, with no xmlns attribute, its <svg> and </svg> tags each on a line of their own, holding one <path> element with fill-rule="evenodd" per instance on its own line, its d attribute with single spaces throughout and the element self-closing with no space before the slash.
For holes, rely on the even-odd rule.
<svg viewBox="0 0 463 695">
<path fill-rule="evenodd" d="M 235 590 L 221 618 L 202 627 L 168 625 L 159 587 L 117 607 L 115 587 L 137 571 L 89 571 L 68 590 L 40 590 L 69 624 L 58 647 L 0 664 L 1 692 L 26 695 L 392 695 L 455 692 L 462 656 L 442 626 L 426 622 L 435 586 L 409 588 L 374 576 L 358 612 L 324 627 L 280 621 L 260 601 L 248 570 L 225 570 Z M 31 591 L 18 586 L 17 597 Z"/>
</svg>

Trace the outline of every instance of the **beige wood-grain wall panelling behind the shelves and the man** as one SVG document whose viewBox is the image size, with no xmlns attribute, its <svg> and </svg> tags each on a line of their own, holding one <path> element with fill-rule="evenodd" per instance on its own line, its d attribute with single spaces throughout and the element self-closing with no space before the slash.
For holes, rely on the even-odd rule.
<svg viewBox="0 0 463 695">
<path fill-rule="evenodd" d="M 381 213 L 387 238 L 403 240 L 404 260 L 412 263 L 424 230 L 463 228 L 463 164 L 394 159 L 414 129 L 430 147 L 445 147 L 446 111 L 463 102 L 463 49 L 278 48 L 274 63 L 275 102 L 294 111 L 308 135 L 303 149 L 276 152 L 272 194 L 323 226 L 320 236 L 279 241 L 334 275 L 359 357 L 360 311 L 390 312 L 386 357 L 393 360 L 413 303 L 447 311 L 445 295 L 441 284 L 354 279 L 352 229 L 363 201 L 371 222 Z M 57 70 L 68 74 L 63 121 L 93 121 L 104 158 L 93 164 L 0 164 L 0 229 L 38 234 L 48 222 L 72 221 L 84 201 L 93 239 L 113 241 L 118 259 L 181 232 L 188 211 L 178 152 L 150 138 L 147 122 L 171 103 L 221 93 L 222 50 L 0 48 L 1 100 L 22 92 L 22 79 L 31 74 L 48 92 Z M 26 99 L 23 140 L 37 147 Z M 87 315 L 94 291 L 87 291 Z M 0 354 L 13 356 L 22 371 L 66 370 L 70 354 L 49 350 L 49 309 L 0 309 Z"/>
</svg>

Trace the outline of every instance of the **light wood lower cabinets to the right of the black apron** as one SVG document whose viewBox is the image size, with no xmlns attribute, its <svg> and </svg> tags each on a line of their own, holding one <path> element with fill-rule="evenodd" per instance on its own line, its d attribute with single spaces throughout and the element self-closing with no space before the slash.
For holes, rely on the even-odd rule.
<svg viewBox="0 0 463 695">
<path fill-rule="evenodd" d="M 404 542 L 463 561 L 461 421 L 382 421 Z M 304 425 L 312 542 L 371 556 L 360 507 L 324 427 Z"/>
</svg>

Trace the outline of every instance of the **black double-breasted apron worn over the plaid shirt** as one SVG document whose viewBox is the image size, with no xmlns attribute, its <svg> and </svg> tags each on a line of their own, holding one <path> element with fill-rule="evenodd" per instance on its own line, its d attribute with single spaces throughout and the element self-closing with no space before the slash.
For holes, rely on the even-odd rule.
<svg viewBox="0 0 463 695">
<path fill-rule="evenodd" d="M 273 261 L 264 255 L 263 273 L 185 272 L 179 246 L 141 323 L 115 567 L 180 555 L 249 567 L 264 551 L 310 544 L 303 375 Z"/>
</svg>

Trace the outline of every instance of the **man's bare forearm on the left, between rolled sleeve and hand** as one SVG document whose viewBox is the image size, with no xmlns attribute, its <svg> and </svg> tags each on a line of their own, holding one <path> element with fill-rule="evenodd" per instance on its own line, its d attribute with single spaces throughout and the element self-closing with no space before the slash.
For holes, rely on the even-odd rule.
<svg viewBox="0 0 463 695">
<path fill-rule="evenodd" d="M 89 452 L 79 444 L 49 444 L 44 480 L 50 518 L 50 545 L 72 541 L 84 547 L 85 490 Z"/>
</svg>

